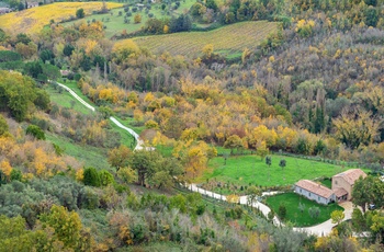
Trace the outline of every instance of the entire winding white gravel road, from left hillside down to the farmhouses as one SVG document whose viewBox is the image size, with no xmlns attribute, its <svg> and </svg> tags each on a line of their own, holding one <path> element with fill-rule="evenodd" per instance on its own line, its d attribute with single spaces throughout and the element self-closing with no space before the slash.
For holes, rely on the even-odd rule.
<svg viewBox="0 0 384 252">
<path fill-rule="evenodd" d="M 87 103 L 84 100 L 82 100 L 79 95 L 77 95 L 77 93 L 75 93 L 74 90 L 71 90 L 70 88 L 68 88 L 67 85 L 65 84 L 61 84 L 59 82 L 54 82 L 54 81 L 49 81 L 52 83 L 56 83 L 57 85 L 61 87 L 63 89 L 65 89 L 66 91 L 68 91 L 76 100 L 78 100 L 81 104 L 83 104 L 86 107 L 88 107 L 89 110 L 91 110 L 92 112 L 95 112 L 95 108 L 94 106 L 90 105 L 89 103 Z M 144 145 L 144 141 L 139 138 L 138 134 L 135 133 L 132 128 L 128 128 L 124 125 L 122 125 L 115 117 L 111 116 L 110 117 L 111 122 L 114 123 L 117 127 L 128 131 L 128 134 L 131 134 L 132 136 L 134 136 L 137 145 L 135 147 L 135 150 L 142 150 L 142 149 L 146 149 L 146 150 L 155 150 L 154 147 L 145 147 Z M 226 196 L 224 195 L 221 195 L 221 194 L 216 194 L 216 193 L 213 193 L 213 192 L 210 192 L 210 191 L 206 191 L 206 190 L 203 190 L 203 188 L 200 188 L 197 187 L 195 184 L 190 184 L 190 185 L 187 185 L 185 186 L 187 188 L 189 188 L 190 191 L 192 192 L 196 192 L 196 193 L 200 193 L 202 195 L 206 195 L 208 197 L 213 197 L 213 198 L 216 198 L 216 199 L 219 199 L 219 201 L 227 201 L 226 199 Z M 271 192 L 271 193 L 262 193 L 262 196 L 267 196 L 267 195 L 272 195 L 272 194 L 275 194 L 275 192 Z M 239 198 L 239 203 L 241 205 L 248 205 L 248 196 L 241 196 Z M 252 207 L 255 208 L 258 208 L 266 217 L 268 216 L 268 214 L 271 211 L 271 209 L 256 201 L 251 204 Z M 352 208 L 351 207 L 346 207 L 346 210 L 345 210 L 345 220 L 347 219 L 351 219 L 351 214 L 352 214 Z M 278 217 L 273 217 L 273 224 L 275 226 L 283 226 L 283 224 L 279 220 Z M 335 224 L 331 224 L 331 220 L 327 220 L 323 224 L 319 224 L 319 225 L 316 225 L 316 226 L 313 226 L 313 227 L 307 227 L 307 228 L 294 228 L 293 230 L 295 231 L 302 231 L 302 232 L 307 232 L 307 233 L 310 233 L 310 234 L 315 234 L 315 236 L 328 236 L 332 228 L 335 227 L 336 225 Z"/>
</svg>

